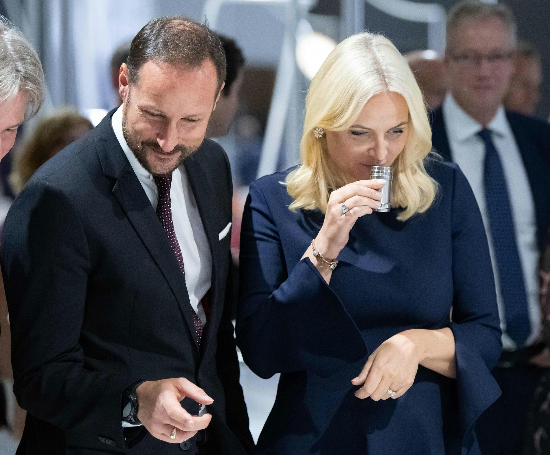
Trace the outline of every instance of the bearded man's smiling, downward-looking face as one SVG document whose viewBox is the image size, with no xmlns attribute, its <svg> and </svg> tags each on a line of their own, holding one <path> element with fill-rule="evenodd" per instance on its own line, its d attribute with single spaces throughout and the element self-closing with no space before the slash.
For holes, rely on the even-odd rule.
<svg viewBox="0 0 550 455">
<path fill-rule="evenodd" d="M 149 61 L 134 78 L 128 84 L 123 64 L 119 87 L 124 138 L 151 174 L 172 173 L 204 141 L 219 98 L 216 67 L 211 60 L 197 68 Z"/>
</svg>

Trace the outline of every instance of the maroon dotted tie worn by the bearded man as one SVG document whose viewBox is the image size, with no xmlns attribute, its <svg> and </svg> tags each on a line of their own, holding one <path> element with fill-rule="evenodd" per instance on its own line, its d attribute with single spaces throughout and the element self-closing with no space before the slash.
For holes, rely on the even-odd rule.
<svg viewBox="0 0 550 455">
<path fill-rule="evenodd" d="M 170 198 L 172 174 L 153 175 L 153 180 L 155 180 L 158 190 L 157 217 L 160 219 L 164 232 L 166 232 L 168 236 L 170 245 L 172 245 L 175 258 L 178 260 L 179 269 L 185 275 L 182 250 L 179 247 L 178 238 L 175 236 L 174 221 L 172 220 L 172 199 Z M 197 344 L 200 346 L 202 339 L 202 321 L 193 307 L 191 307 L 191 312 L 193 312 L 193 323 L 195 324 Z"/>
</svg>

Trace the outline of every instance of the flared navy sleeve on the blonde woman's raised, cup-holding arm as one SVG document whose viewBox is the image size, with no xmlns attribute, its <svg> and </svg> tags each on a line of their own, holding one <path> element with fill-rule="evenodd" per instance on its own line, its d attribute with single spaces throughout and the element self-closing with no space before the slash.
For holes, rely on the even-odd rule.
<svg viewBox="0 0 550 455">
<path fill-rule="evenodd" d="M 262 180 L 250 186 L 241 225 L 237 345 L 261 378 L 304 370 L 330 376 L 365 357 L 367 348 L 311 260 L 287 267 Z M 282 203 L 276 192 L 271 197 Z M 296 248 L 301 257 L 305 248 Z"/>
</svg>

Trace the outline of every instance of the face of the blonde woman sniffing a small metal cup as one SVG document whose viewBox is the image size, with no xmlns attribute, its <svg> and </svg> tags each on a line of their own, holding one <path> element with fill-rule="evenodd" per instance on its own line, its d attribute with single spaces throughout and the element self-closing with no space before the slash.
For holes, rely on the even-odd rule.
<svg viewBox="0 0 550 455">
<path fill-rule="evenodd" d="M 326 131 L 328 154 L 343 173 L 354 180 L 367 180 L 372 166 L 393 164 L 408 134 L 405 98 L 395 92 L 378 93 L 347 130 Z"/>
</svg>

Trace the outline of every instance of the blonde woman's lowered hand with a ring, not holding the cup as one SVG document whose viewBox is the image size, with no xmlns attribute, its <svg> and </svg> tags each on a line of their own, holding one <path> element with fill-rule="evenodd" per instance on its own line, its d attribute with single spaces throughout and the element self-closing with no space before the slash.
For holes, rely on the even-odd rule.
<svg viewBox="0 0 550 455">
<path fill-rule="evenodd" d="M 374 401 L 399 398 L 413 384 L 421 362 L 420 349 L 403 334 L 384 341 L 368 357 L 367 363 L 353 385 L 362 385 L 355 392 L 357 398 L 371 397 Z M 388 390 L 396 392 L 390 395 Z"/>
</svg>

